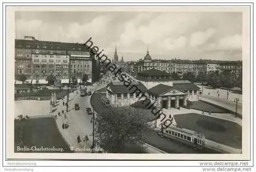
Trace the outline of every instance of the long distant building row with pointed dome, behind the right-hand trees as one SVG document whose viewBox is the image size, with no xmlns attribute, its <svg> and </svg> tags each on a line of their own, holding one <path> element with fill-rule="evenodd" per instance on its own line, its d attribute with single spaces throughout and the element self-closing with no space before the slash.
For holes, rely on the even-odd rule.
<svg viewBox="0 0 256 172">
<path fill-rule="evenodd" d="M 167 73 L 178 73 L 183 75 L 187 72 L 192 72 L 195 75 L 199 73 L 209 74 L 211 72 L 219 71 L 223 72 L 229 70 L 231 73 L 239 76 L 242 74 L 242 61 L 232 61 L 232 62 L 206 62 L 204 60 L 159 60 L 152 59 L 150 53 L 146 52 L 143 60 L 135 63 L 130 63 L 130 68 L 132 68 L 137 74 L 150 69 L 157 69 Z"/>
</svg>

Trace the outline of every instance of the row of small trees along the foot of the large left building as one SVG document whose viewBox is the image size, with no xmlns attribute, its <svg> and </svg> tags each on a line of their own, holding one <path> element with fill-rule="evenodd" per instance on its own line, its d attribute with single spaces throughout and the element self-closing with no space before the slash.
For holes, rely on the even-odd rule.
<svg viewBox="0 0 256 172">
<path fill-rule="evenodd" d="M 15 79 L 17 79 L 17 80 L 19 80 L 19 81 L 22 81 L 22 82 L 25 82 L 28 78 L 27 78 L 26 75 L 20 74 L 20 75 L 17 75 L 17 76 L 15 77 Z M 82 76 L 82 83 L 87 82 L 88 79 L 89 79 L 88 75 L 87 75 L 87 74 L 83 74 L 83 76 Z M 52 74 L 48 75 L 47 78 L 46 78 L 46 81 L 48 81 L 48 83 L 51 84 L 51 85 L 53 85 L 56 80 L 57 80 L 57 79 L 56 79 L 56 76 L 54 76 L 54 75 L 52 75 Z M 73 76 L 73 77 L 71 78 L 71 81 L 72 81 L 73 83 L 77 83 L 77 78 L 76 78 L 76 76 Z M 39 82 L 39 81 L 37 80 L 37 82 Z"/>
</svg>

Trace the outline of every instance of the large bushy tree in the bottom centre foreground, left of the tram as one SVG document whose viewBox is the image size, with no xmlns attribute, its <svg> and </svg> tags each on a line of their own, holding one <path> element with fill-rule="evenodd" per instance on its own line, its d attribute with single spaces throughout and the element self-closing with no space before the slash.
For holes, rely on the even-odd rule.
<svg viewBox="0 0 256 172">
<path fill-rule="evenodd" d="M 96 144 L 108 153 L 146 153 L 146 122 L 143 111 L 131 107 L 102 111 L 96 121 Z"/>
</svg>

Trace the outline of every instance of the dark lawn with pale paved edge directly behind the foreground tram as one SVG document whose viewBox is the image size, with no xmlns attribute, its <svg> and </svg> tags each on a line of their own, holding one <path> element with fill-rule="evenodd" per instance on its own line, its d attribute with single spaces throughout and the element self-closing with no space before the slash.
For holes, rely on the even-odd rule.
<svg viewBox="0 0 256 172">
<path fill-rule="evenodd" d="M 189 113 L 174 115 L 182 128 L 203 133 L 206 146 L 223 153 L 241 154 L 242 126 L 223 119 Z"/>
</svg>

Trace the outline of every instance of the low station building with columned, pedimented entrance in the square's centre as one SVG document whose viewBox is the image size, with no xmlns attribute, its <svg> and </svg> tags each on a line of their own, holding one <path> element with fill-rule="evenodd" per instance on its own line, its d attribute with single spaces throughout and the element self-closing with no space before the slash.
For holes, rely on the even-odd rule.
<svg viewBox="0 0 256 172">
<path fill-rule="evenodd" d="M 143 71 L 140 76 L 129 88 L 123 82 L 111 82 L 106 88 L 106 97 L 110 104 L 114 107 L 129 106 L 140 100 L 143 94 L 152 103 L 156 102 L 154 104 L 158 109 L 177 108 L 186 106 L 187 101 L 199 100 L 200 88 L 188 80 L 171 80 L 169 74 L 155 69 Z M 147 79 L 148 77 L 151 79 Z M 140 94 L 136 93 L 138 90 Z"/>
</svg>

